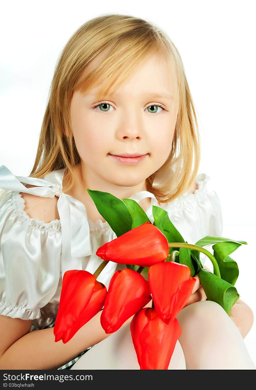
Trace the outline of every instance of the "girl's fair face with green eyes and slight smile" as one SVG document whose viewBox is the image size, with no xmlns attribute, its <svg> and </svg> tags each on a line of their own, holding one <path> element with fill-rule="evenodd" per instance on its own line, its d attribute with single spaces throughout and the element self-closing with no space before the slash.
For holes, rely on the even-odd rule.
<svg viewBox="0 0 256 390">
<path fill-rule="evenodd" d="M 82 171 L 90 178 L 90 188 L 94 182 L 98 188 L 104 183 L 109 188 L 137 186 L 142 190 L 146 178 L 162 167 L 171 151 L 178 107 L 167 64 L 155 54 L 112 96 L 96 101 L 99 89 L 84 96 L 76 91 L 71 100 L 71 124 Z M 123 164 L 111 156 L 125 153 L 146 156 L 136 164 Z"/>
</svg>

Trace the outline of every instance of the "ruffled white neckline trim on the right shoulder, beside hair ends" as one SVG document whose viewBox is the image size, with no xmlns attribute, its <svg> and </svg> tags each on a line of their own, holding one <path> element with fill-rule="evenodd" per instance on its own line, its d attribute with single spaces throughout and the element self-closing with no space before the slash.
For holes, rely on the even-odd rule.
<svg viewBox="0 0 256 390">
<path fill-rule="evenodd" d="M 185 192 L 183 195 L 180 195 L 178 198 L 172 200 L 168 204 L 163 204 L 163 209 L 169 209 L 173 214 L 179 214 L 182 211 L 189 211 L 194 209 L 199 203 L 203 202 L 209 193 L 207 186 L 210 176 L 207 176 L 204 173 L 197 175 L 197 190 L 194 193 Z"/>
</svg>

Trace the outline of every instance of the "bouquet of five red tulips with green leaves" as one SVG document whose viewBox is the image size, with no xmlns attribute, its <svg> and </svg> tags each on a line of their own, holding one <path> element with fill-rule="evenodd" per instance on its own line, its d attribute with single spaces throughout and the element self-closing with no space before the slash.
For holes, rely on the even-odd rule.
<svg viewBox="0 0 256 390">
<path fill-rule="evenodd" d="M 65 272 L 55 341 L 68 342 L 103 307 L 100 321 L 105 333 L 116 332 L 133 316 L 130 330 L 140 369 L 168 369 L 181 335 L 176 316 L 192 293 L 193 276 L 199 273 L 207 299 L 229 315 L 239 298 L 234 287 L 238 266 L 229 254 L 247 243 L 206 236 L 189 244 L 161 207 L 152 206 L 151 223 L 134 200 L 122 202 L 107 192 L 87 191 L 117 238 L 98 248 L 96 255 L 103 262 L 94 275 L 77 269 Z M 213 255 L 203 248 L 210 244 Z M 200 252 L 212 261 L 213 273 L 203 268 Z M 127 268 L 117 269 L 107 291 L 96 278 L 108 261 Z M 151 299 L 152 307 L 145 307 Z"/>
</svg>

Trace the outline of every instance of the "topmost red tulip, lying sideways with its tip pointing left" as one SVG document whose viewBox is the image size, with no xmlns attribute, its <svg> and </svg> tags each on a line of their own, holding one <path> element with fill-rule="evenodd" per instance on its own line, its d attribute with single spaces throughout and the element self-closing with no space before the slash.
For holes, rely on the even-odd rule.
<svg viewBox="0 0 256 390">
<path fill-rule="evenodd" d="M 167 259 L 169 245 L 161 230 L 146 222 L 105 243 L 96 255 L 119 264 L 149 267 Z"/>
</svg>

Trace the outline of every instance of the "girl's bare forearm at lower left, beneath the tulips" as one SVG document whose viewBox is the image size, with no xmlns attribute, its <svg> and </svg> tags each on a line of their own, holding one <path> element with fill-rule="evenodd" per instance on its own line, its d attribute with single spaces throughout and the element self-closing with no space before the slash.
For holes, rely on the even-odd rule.
<svg viewBox="0 0 256 390">
<path fill-rule="evenodd" d="M 66 344 L 55 342 L 54 328 L 34 330 L 12 344 L 0 357 L 0 369 L 57 369 L 86 348 L 110 336 L 100 324 L 98 312 Z M 124 324 L 132 321 L 132 317 Z"/>
</svg>

